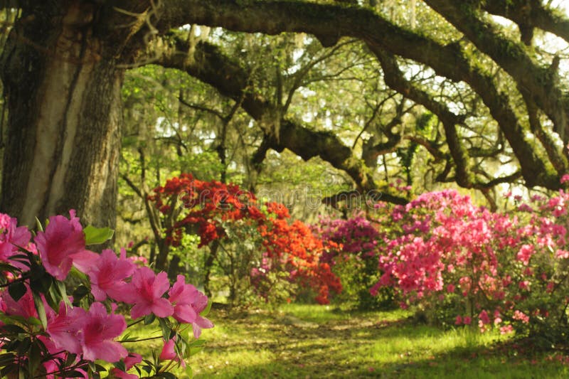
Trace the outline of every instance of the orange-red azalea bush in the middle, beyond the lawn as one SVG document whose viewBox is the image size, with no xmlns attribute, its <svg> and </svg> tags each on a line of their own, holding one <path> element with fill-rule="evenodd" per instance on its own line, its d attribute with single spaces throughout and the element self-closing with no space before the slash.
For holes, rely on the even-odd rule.
<svg viewBox="0 0 569 379">
<path fill-rule="evenodd" d="M 200 246 L 222 247 L 229 261 L 222 268 L 230 277 L 231 298 L 236 296 L 235 282 L 243 276 L 243 269 L 252 289 L 264 299 L 277 287 L 290 287 L 279 286 L 282 282 L 314 289 L 321 304 L 329 302 L 330 292 L 341 291 L 339 279 L 321 260 L 325 252 L 321 240 L 304 223 L 289 223 L 289 212 L 282 204 L 258 207 L 249 191 L 233 184 L 199 181 L 191 174 L 154 188 L 149 200 L 164 219 L 171 220 L 164 223 L 171 225 L 164 230 L 167 244 L 179 245 L 184 233 L 195 233 Z"/>
</svg>

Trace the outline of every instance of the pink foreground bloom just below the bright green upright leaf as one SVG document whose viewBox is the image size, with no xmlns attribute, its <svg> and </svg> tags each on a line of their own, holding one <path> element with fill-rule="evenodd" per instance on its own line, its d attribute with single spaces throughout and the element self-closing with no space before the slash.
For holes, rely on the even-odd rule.
<svg viewBox="0 0 569 379">
<path fill-rule="evenodd" d="M 124 279 L 131 276 L 136 266 L 127 260 L 126 251 L 121 250 L 120 258 L 112 250 L 102 250 L 101 255 L 87 269 L 91 279 L 91 293 L 97 301 L 105 301 L 107 295 L 117 301 L 124 301 L 127 283 Z"/>
</svg>

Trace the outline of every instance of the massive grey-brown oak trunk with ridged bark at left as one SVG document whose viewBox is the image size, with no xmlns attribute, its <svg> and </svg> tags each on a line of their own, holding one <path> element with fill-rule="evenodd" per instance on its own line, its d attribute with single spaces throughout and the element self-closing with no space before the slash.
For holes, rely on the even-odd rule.
<svg viewBox="0 0 569 379">
<path fill-rule="evenodd" d="M 51 3 L 23 11 L 1 59 L 0 209 L 33 225 L 73 208 L 85 224 L 114 228 L 124 70 L 102 58 L 92 4 Z"/>
</svg>

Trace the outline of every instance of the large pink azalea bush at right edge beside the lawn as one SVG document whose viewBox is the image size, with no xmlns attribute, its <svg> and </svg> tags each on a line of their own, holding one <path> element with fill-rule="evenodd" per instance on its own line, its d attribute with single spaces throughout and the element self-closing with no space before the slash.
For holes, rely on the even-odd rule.
<svg viewBox="0 0 569 379">
<path fill-rule="evenodd" d="M 558 343 L 568 325 L 568 203 L 560 191 L 491 213 L 455 191 L 425 193 L 390 213 L 371 292 L 394 287 L 403 306 L 437 321 Z"/>
</svg>

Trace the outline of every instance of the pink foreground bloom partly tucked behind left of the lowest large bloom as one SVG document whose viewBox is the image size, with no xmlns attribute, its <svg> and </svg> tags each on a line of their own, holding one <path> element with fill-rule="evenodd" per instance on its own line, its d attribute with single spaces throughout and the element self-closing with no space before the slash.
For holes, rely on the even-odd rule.
<svg viewBox="0 0 569 379">
<path fill-rule="evenodd" d="M 83 328 L 87 312 L 83 308 L 75 307 L 67 309 L 63 301 L 59 304 L 57 314 L 49 307 L 48 309 L 48 332 L 55 347 L 66 350 L 73 354 L 83 352 Z"/>
</svg>

